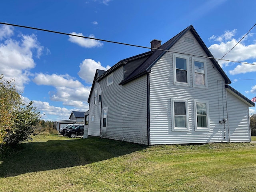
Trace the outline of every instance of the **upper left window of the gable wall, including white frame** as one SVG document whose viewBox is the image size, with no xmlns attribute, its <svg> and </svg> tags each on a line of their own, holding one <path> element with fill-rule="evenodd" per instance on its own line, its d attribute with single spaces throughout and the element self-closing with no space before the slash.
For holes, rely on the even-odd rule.
<svg viewBox="0 0 256 192">
<path fill-rule="evenodd" d="M 189 58 L 173 54 L 174 84 L 190 85 Z"/>
</svg>

